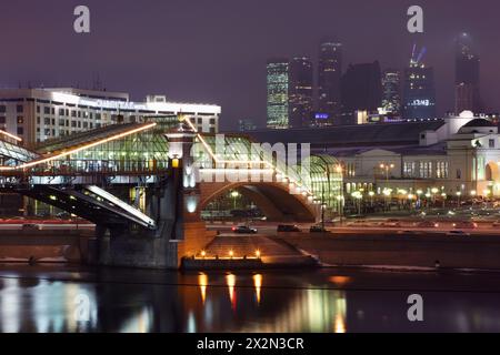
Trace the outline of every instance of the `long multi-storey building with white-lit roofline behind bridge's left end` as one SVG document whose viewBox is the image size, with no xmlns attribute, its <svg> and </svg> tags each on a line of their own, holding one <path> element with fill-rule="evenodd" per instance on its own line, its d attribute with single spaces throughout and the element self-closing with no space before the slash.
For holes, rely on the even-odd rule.
<svg viewBox="0 0 500 355">
<path fill-rule="evenodd" d="M 200 132 L 217 133 L 218 105 L 168 102 L 149 95 L 132 102 L 128 93 L 80 89 L 0 90 L 0 130 L 21 138 L 26 145 L 109 124 L 143 122 L 151 115 L 182 113 Z"/>
</svg>

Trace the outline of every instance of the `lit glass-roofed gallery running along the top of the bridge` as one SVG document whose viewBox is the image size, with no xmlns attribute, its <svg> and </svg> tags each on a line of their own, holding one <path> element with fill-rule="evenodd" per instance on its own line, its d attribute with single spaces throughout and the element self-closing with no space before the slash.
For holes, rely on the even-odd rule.
<svg viewBox="0 0 500 355">
<path fill-rule="evenodd" d="M 179 156 L 173 154 L 169 132 L 192 136 L 192 166 L 200 185 L 219 183 L 217 174 L 223 172 L 226 179 L 228 174 L 231 179 L 220 191 L 242 186 L 247 180 L 260 185 L 279 184 L 316 205 L 317 211 L 323 206 L 337 214 L 341 209 L 342 171 L 334 158 L 302 156 L 298 164 L 288 164 L 286 155 L 262 149 L 244 135 L 199 133 L 186 116 L 153 116 L 141 123 L 108 125 L 48 140 L 31 150 L 22 148 L 14 136 L 0 134 L 0 183 L 104 184 L 104 190 L 107 184 L 147 186 L 176 168 L 172 165 Z M 258 180 L 253 180 L 256 174 Z"/>
</svg>

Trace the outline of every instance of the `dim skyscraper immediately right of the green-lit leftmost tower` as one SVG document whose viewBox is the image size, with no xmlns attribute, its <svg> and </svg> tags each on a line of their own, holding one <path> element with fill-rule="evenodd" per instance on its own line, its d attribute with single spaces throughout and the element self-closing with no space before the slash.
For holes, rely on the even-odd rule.
<svg viewBox="0 0 500 355">
<path fill-rule="evenodd" d="M 310 124 L 312 116 L 312 62 L 309 58 L 293 58 L 289 67 L 290 126 Z"/>
</svg>

